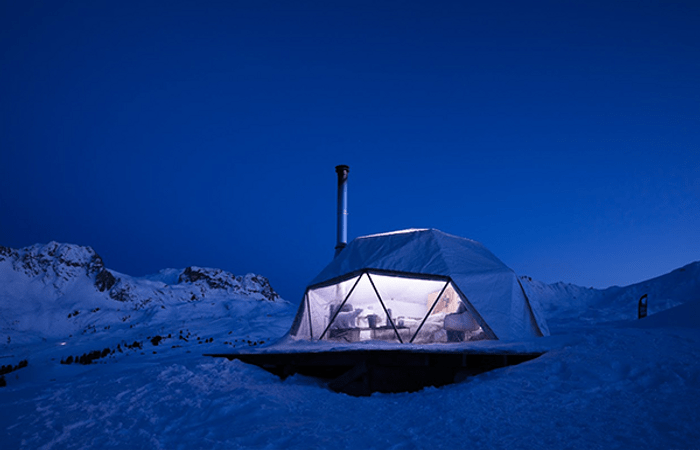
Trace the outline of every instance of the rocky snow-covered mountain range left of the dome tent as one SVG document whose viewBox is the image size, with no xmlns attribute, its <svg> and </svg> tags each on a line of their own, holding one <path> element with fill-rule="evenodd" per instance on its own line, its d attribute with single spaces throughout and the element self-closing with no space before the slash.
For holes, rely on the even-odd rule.
<svg viewBox="0 0 700 450">
<path fill-rule="evenodd" d="M 187 267 L 136 278 L 106 268 L 90 247 L 0 247 L 0 345 L 236 322 L 260 302 L 286 303 L 260 275 Z"/>
</svg>

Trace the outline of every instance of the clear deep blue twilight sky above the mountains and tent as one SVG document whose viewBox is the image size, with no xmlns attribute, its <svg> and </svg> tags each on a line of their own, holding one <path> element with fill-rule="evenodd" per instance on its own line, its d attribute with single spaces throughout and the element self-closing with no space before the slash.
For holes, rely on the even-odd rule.
<svg viewBox="0 0 700 450">
<path fill-rule="evenodd" d="M 438 228 L 519 274 L 700 259 L 699 2 L 2 2 L 0 245 L 200 265 L 288 300 Z"/>
</svg>

